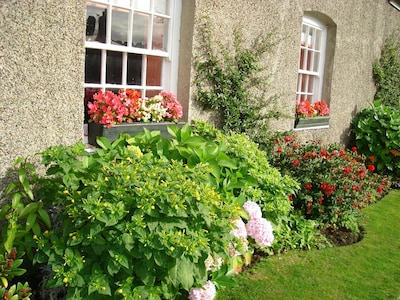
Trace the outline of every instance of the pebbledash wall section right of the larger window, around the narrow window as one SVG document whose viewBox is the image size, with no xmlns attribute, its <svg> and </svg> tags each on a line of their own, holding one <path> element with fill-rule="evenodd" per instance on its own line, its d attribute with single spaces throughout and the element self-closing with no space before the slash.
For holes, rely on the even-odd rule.
<svg viewBox="0 0 400 300">
<path fill-rule="evenodd" d="M 187 0 L 185 0 L 187 1 Z M 375 86 L 372 64 L 380 57 L 385 37 L 400 27 L 400 12 L 386 0 L 197 0 L 195 2 L 194 52 L 199 42 L 199 24 L 208 16 L 214 26 L 216 40 L 229 45 L 232 29 L 241 25 L 251 42 L 259 33 L 274 28 L 283 40 L 265 57 L 271 77 L 271 92 L 281 94 L 278 107 L 295 115 L 295 91 L 299 59 L 301 21 L 305 11 L 316 11 L 336 24 L 336 47 L 332 66 L 331 120 L 329 129 L 298 131 L 303 140 L 347 142 L 350 121 L 354 114 L 373 99 Z M 194 4 L 193 4 L 194 5 Z M 192 73 L 194 70 L 192 70 Z M 192 85 L 193 90 L 193 85 Z M 193 93 L 192 93 L 193 94 Z M 192 95 L 193 96 L 193 95 Z M 213 119 L 194 105 L 189 119 Z M 272 127 L 293 129 L 293 119 L 281 119 Z"/>
</svg>

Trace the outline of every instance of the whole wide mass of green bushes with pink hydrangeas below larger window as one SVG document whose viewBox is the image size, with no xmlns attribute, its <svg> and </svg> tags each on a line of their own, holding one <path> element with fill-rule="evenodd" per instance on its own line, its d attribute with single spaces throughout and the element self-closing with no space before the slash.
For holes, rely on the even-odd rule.
<svg viewBox="0 0 400 300">
<path fill-rule="evenodd" d="M 273 241 L 261 210 L 254 217 L 242 205 L 257 202 L 274 221 L 291 210 L 297 183 L 245 135 L 204 124 L 169 131 L 172 139 L 149 131 L 101 138 L 93 155 L 81 143 L 46 149 L 46 175 L 31 170 L 28 180 L 21 166 L 22 184 L 9 188 L 15 205 L 29 198 L 16 209 L 29 220 L 16 219 L 18 235 L 11 226 L 3 239 L 37 247 L 34 262 L 51 265 L 49 285 L 65 286 L 69 299 L 178 299 L 229 284 L 238 255 Z M 239 223 L 248 240 L 233 233 Z"/>
</svg>

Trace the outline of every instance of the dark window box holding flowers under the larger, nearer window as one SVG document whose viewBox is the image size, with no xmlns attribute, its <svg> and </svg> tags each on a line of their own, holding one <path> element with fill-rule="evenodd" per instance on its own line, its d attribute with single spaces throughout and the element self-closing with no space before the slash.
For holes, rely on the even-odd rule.
<svg viewBox="0 0 400 300">
<path fill-rule="evenodd" d="M 113 142 L 121 133 L 128 133 L 131 136 L 134 136 L 135 134 L 144 131 L 144 128 L 150 131 L 160 131 L 161 136 L 170 138 L 171 135 L 168 133 L 167 127 L 175 125 L 182 128 L 184 124 L 185 122 L 133 122 L 116 124 L 107 128 L 106 125 L 90 122 L 88 124 L 88 140 L 90 145 L 97 146 L 97 137 L 103 136 Z"/>
</svg>

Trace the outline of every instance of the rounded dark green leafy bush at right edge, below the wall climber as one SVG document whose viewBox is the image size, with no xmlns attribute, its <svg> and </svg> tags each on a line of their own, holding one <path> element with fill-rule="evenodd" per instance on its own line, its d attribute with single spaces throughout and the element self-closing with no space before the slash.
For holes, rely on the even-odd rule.
<svg viewBox="0 0 400 300">
<path fill-rule="evenodd" d="M 358 151 L 375 158 L 378 171 L 400 175 L 400 110 L 379 102 L 365 108 L 352 120 Z"/>
</svg>

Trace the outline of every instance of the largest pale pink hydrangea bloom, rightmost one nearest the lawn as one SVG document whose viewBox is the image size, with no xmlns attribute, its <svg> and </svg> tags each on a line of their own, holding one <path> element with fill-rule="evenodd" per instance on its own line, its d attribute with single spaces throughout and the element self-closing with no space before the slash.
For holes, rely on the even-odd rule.
<svg viewBox="0 0 400 300">
<path fill-rule="evenodd" d="M 252 218 L 246 224 L 247 234 L 254 239 L 260 247 L 269 247 L 274 241 L 271 222 L 264 218 Z"/>
</svg>

